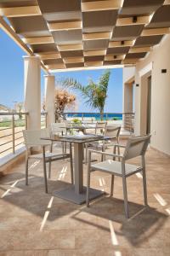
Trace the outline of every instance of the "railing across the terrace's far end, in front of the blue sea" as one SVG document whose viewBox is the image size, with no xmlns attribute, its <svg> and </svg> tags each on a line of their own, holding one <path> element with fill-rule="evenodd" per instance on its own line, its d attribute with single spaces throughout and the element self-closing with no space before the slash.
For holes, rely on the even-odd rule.
<svg viewBox="0 0 170 256">
<path fill-rule="evenodd" d="M 66 119 L 81 119 L 88 123 L 93 123 L 100 120 L 100 113 L 88 112 L 65 112 Z M 134 131 L 134 113 L 103 113 L 102 119 L 108 123 L 117 123 L 122 125 L 122 131 Z"/>
</svg>

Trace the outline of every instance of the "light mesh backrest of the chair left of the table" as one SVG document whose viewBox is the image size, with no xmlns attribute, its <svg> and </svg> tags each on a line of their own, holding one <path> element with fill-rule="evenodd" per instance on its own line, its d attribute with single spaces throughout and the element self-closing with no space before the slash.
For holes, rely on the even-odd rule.
<svg viewBox="0 0 170 256">
<path fill-rule="evenodd" d="M 49 137 L 48 129 L 42 130 L 24 130 L 23 131 L 26 148 L 49 145 L 48 140 L 42 140 L 42 137 Z"/>
</svg>

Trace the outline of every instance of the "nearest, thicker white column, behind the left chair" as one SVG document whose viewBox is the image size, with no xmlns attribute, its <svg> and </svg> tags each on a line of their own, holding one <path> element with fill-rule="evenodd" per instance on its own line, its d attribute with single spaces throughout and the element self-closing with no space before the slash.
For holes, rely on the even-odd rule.
<svg viewBox="0 0 170 256">
<path fill-rule="evenodd" d="M 41 65 L 37 56 L 24 56 L 25 111 L 28 130 L 41 129 Z"/>
</svg>

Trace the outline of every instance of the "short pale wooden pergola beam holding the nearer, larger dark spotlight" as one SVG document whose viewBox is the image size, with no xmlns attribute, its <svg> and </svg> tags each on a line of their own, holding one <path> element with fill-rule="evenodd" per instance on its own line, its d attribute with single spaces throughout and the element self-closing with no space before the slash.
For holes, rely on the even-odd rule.
<svg viewBox="0 0 170 256">
<path fill-rule="evenodd" d="M 119 18 L 116 20 L 116 26 L 129 26 L 129 25 L 141 25 L 150 22 L 150 16 L 139 16 L 137 21 L 133 22 L 133 17 Z M 133 28 L 132 28 L 133 29 Z"/>
</svg>

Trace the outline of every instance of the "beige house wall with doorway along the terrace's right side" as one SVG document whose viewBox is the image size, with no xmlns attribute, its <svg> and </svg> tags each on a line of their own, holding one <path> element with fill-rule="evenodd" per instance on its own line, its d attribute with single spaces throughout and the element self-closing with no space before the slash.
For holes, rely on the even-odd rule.
<svg viewBox="0 0 170 256">
<path fill-rule="evenodd" d="M 151 146 L 170 154 L 170 35 L 139 61 L 135 83 L 135 133 L 144 133 L 146 79 L 151 72 Z M 167 69 L 167 73 L 161 73 Z"/>
</svg>

